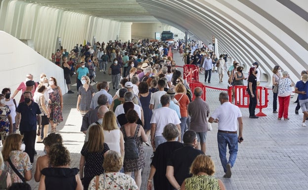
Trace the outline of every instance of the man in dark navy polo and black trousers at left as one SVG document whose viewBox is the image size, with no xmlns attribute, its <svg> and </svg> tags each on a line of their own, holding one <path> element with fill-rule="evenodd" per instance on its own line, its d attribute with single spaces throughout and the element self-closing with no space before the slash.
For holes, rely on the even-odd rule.
<svg viewBox="0 0 308 190">
<path fill-rule="evenodd" d="M 24 92 L 24 102 L 21 102 L 16 109 L 15 121 L 19 125 L 20 134 L 24 136 L 26 146 L 25 152 L 30 157 L 30 162 L 34 162 L 35 140 L 37 135 L 37 123 L 39 123 L 39 131 L 41 127 L 41 117 L 39 105 L 32 100 L 30 91 Z"/>
</svg>

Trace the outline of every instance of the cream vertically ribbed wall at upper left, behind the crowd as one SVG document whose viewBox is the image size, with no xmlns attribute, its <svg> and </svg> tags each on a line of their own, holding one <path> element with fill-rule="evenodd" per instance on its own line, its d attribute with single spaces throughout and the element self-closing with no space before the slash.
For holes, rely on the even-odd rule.
<svg viewBox="0 0 308 190">
<path fill-rule="evenodd" d="M 18 39 L 32 39 L 34 48 L 50 58 L 57 38 L 68 50 L 84 40 L 116 39 L 121 23 L 59 8 L 17 0 L 0 0 L 0 30 Z"/>
</svg>

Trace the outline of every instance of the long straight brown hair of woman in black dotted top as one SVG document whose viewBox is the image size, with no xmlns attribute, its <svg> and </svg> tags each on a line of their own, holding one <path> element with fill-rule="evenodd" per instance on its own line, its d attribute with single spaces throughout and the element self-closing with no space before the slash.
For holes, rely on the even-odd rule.
<svg viewBox="0 0 308 190">
<path fill-rule="evenodd" d="M 86 142 L 89 152 L 102 152 L 104 150 L 104 140 L 103 127 L 100 125 L 91 126 L 89 129 L 89 140 Z"/>
</svg>

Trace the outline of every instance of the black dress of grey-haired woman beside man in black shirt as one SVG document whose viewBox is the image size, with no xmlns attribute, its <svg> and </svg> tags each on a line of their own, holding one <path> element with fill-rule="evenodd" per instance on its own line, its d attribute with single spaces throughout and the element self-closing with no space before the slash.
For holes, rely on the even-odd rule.
<svg viewBox="0 0 308 190">
<path fill-rule="evenodd" d="M 155 190 L 171 190 L 173 188 L 166 177 L 167 160 L 173 151 L 183 146 L 182 143 L 177 141 L 168 141 L 158 145 L 151 163 L 156 168 L 153 178 Z"/>
</svg>

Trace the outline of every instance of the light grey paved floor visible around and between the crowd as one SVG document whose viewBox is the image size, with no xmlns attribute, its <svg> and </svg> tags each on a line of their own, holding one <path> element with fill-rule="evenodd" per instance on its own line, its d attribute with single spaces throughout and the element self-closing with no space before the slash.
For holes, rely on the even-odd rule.
<svg viewBox="0 0 308 190">
<path fill-rule="evenodd" d="M 174 59 L 178 65 L 183 65 L 179 54 L 175 54 Z M 111 77 L 98 72 L 95 80 L 111 81 Z M 204 81 L 204 76 L 201 75 L 199 80 Z M 218 74 L 213 73 L 211 83 L 205 84 L 227 89 L 227 74 L 224 82 L 219 83 Z M 63 136 L 64 145 L 71 152 L 71 166 L 78 167 L 84 135 L 80 132 L 81 115 L 76 110 L 76 86 L 73 86 L 72 90 L 75 94 L 63 96 L 64 121 L 60 123 L 57 130 Z M 211 113 L 220 106 L 218 101 L 220 92 L 213 89 L 208 89 L 206 92 L 206 101 L 209 103 Z M 110 93 L 114 95 L 115 90 L 111 90 Z M 272 113 L 272 93 L 269 91 L 269 106 L 263 109 L 263 113 L 267 116 L 250 119 L 248 109 L 241 109 L 244 142 L 239 145 L 238 156 L 230 179 L 222 177 L 224 172 L 218 155 L 217 124 L 213 124 L 213 131 L 207 134 L 206 154 L 211 155 L 214 160 L 216 165 L 214 175 L 223 181 L 227 190 L 304 190 L 308 187 L 308 127 L 301 126 L 303 114 L 296 115 L 295 107 L 296 104 L 291 102 L 290 120 L 277 120 L 277 114 Z M 38 155 L 35 159 L 43 154 L 43 145 L 36 144 L 36 150 Z M 142 175 L 141 190 L 146 190 L 151 153 L 152 148 L 145 147 L 146 166 Z M 34 172 L 35 168 L 32 173 Z M 38 190 L 39 183 L 36 183 L 34 179 L 29 183 L 33 190 Z"/>
</svg>

